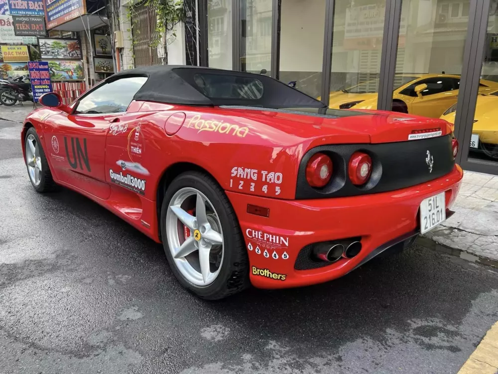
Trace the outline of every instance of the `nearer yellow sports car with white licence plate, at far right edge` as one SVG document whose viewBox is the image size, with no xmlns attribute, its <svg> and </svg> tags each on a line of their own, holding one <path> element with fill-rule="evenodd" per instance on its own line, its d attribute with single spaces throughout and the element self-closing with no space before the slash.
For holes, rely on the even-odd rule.
<svg viewBox="0 0 498 374">
<path fill-rule="evenodd" d="M 441 119 L 455 123 L 457 104 L 443 113 Z M 480 149 L 492 159 L 498 160 L 498 91 L 477 97 L 476 113 L 470 141 L 471 149 Z"/>
</svg>

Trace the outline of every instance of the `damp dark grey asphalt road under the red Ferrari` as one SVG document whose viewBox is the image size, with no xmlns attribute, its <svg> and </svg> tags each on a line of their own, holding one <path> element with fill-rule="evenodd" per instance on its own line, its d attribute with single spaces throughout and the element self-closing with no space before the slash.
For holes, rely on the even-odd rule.
<svg viewBox="0 0 498 374">
<path fill-rule="evenodd" d="M 0 373 L 457 373 L 498 320 L 497 270 L 421 247 L 201 301 L 161 245 L 75 192 L 36 193 L 20 126 L 0 120 Z"/>
</svg>

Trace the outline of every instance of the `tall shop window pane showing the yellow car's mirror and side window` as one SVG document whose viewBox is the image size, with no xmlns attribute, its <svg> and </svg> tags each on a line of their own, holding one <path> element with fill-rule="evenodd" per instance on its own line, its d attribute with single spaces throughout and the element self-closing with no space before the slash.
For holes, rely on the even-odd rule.
<svg viewBox="0 0 498 374">
<path fill-rule="evenodd" d="M 416 77 L 393 87 L 393 101 L 401 101 L 403 111 L 439 118 L 457 102 L 468 28 L 462 16 L 468 12 L 468 1 L 403 0 L 395 75 Z"/>
</svg>

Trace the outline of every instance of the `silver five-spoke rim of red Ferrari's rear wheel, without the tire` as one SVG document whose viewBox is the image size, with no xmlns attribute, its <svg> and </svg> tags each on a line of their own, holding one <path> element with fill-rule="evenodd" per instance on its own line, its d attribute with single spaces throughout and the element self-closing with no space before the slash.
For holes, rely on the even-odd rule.
<svg viewBox="0 0 498 374">
<path fill-rule="evenodd" d="M 187 212 L 194 207 L 195 216 Z M 185 227 L 190 231 L 187 238 Z M 206 195 L 193 187 L 181 188 L 173 195 L 166 213 L 166 236 L 177 269 L 190 283 L 207 286 L 214 282 L 225 247 L 220 218 Z"/>
</svg>

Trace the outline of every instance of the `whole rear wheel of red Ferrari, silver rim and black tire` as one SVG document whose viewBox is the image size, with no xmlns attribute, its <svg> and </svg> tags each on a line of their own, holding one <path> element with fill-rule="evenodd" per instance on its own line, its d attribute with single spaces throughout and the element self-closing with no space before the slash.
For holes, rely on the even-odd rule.
<svg viewBox="0 0 498 374">
<path fill-rule="evenodd" d="M 161 239 L 178 281 L 204 299 L 249 286 L 247 249 L 225 191 L 205 173 L 173 178 L 161 207 Z"/>
</svg>

